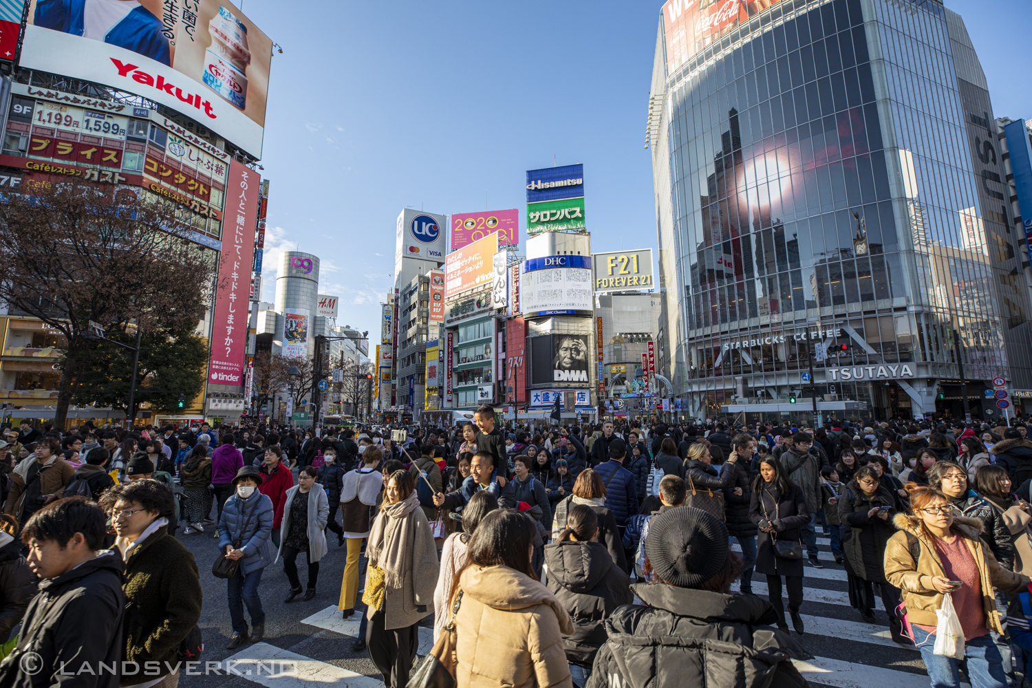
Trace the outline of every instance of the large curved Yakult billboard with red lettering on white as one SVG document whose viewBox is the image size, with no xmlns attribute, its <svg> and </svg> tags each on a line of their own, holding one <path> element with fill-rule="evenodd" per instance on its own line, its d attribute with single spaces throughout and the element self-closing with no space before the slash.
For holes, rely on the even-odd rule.
<svg viewBox="0 0 1032 688">
<path fill-rule="evenodd" d="M 30 0 L 21 66 L 143 96 L 261 158 L 271 57 L 227 0 Z"/>
</svg>

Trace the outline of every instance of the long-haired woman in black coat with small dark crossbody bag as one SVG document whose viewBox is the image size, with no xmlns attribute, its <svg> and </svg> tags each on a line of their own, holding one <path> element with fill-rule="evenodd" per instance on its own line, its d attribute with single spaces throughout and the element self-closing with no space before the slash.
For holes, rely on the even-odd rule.
<svg viewBox="0 0 1032 688">
<path fill-rule="evenodd" d="M 788 559 L 778 556 L 775 543 L 801 542 L 802 526 L 810 522 L 810 512 L 803 491 L 788 480 L 777 459 L 764 457 L 760 460 L 760 473 L 752 481 L 749 520 L 760 529 L 754 570 L 767 576 L 768 597 L 777 613 L 777 626 L 788 629 L 781 603 L 781 578 L 784 577 L 792 623 L 796 632 L 802 633 L 803 618 L 799 616 L 803 603 L 802 546 L 799 557 Z"/>
</svg>

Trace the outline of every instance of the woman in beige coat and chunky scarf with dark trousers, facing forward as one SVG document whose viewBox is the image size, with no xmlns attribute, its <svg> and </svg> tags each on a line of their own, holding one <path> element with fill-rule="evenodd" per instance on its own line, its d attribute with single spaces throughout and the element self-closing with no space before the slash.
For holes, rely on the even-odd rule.
<svg viewBox="0 0 1032 688">
<path fill-rule="evenodd" d="M 430 524 L 418 506 L 412 473 L 395 470 L 387 479 L 380 515 L 365 546 L 366 589 L 374 567 L 383 570 L 385 588 L 383 609 L 366 609 L 365 643 L 387 688 L 408 683 L 419 647 L 419 621 L 433 611 L 438 550 Z"/>
</svg>

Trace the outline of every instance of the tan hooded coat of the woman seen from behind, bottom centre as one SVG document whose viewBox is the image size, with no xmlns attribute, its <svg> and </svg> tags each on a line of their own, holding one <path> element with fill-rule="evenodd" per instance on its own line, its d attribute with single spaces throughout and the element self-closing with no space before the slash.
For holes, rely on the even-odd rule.
<svg viewBox="0 0 1032 688">
<path fill-rule="evenodd" d="M 570 615 L 548 588 L 508 566 L 471 566 L 455 617 L 459 688 L 573 687 Z"/>
</svg>

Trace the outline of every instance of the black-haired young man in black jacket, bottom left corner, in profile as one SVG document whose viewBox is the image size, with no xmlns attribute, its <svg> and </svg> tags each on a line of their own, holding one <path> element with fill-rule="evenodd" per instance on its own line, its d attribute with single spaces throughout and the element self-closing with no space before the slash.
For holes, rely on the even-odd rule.
<svg viewBox="0 0 1032 688">
<path fill-rule="evenodd" d="M 124 564 L 104 551 L 107 516 L 86 497 L 43 506 L 29 519 L 22 542 L 29 566 L 42 581 L 29 603 L 19 649 L 0 663 L 0 681 L 18 688 L 118 688 L 122 641 Z M 35 661 L 22 661 L 24 659 Z M 83 665 L 96 674 L 62 675 Z"/>
</svg>

